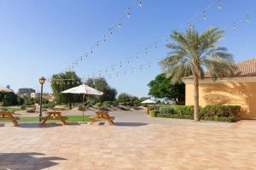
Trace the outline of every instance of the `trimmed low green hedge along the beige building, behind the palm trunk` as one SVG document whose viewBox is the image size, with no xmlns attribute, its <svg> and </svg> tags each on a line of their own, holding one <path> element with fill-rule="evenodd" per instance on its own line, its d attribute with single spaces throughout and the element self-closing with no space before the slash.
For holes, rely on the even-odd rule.
<svg viewBox="0 0 256 170">
<path fill-rule="evenodd" d="M 200 119 L 205 121 L 236 122 L 239 120 L 239 105 L 207 105 L 200 108 Z M 154 111 L 155 112 L 155 111 Z M 193 119 L 194 106 L 161 106 L 158 117 Z"/>
</svg>

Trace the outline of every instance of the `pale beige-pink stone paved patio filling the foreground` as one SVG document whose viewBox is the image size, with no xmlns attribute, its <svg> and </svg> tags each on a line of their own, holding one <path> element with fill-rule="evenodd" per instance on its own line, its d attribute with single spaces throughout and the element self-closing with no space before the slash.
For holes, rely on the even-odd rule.
<svg viewBox="0 0 256 170">
<path fill-rule="evenodd" d="M 5 123 L 0 169 L 256 169 L 256 121 L 142 117 L 145 122 L 117 117 L 116 126 Z"/>
</svg>

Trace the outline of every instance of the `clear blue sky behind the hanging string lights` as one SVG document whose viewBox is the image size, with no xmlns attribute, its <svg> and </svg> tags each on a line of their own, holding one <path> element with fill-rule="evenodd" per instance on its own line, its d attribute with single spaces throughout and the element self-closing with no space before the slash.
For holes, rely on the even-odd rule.
<svg viewBox="0 0 256 170">
<path fill-rule="evenodd" d="M 38 78 L 50 77 L 84 54 L 117 20 L 133 0 L 0 0 L 0 85 L 35 88 Z M 183 24 L 212 0 L 144 0 L 143 8 L 134 8 L 131 19 L 124 20 L 106 45 L 84 60 L 75 71 L 80 77 L 124 60 L 147 47 L 166 33 Z M 199 31 L 209 26 L 224 28 L 240 19 L 236 31 L 228 29 L 221 45 L 234 54 L 236 61 L 256 56 L 256 12 L 245 21 L 245 16 L 256 9 L 255 0 L 222 0 L 192 24 Z M 183 27 L 184 30 L 184 27 Z M 158 59 L 168 49 L 165 42 L 158 48 L 132 59 L 125 68 L 151 62 L 150 68 L 135 70 L 119 77 L 107 78 L 118 92 L 137 96 L 148 94 L 147 84 L 160 73 Z M 45 90 L 50 92 L 49 82 Z"/>
</svg>

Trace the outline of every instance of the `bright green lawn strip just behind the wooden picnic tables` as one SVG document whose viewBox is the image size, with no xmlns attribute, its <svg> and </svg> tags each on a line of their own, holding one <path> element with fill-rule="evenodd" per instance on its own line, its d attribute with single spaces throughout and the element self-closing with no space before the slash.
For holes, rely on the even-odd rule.
<svg viewBox="0 0 256 170">
<path fill-rule="evenodd" d="M 90 116 L 84 116 L 84 122 L 89 122 Z M 0 122 L 9 122 L 9 121 L 0 121 Z M 18 122 L 39 122 L 38 116 L 31 117 L 20 117 Z M 60 122 L 59 120 L 49 120 L 47 122 Z M 67 122 L 82 122 L 82 116 L 68 116 Z"/>
</svg>

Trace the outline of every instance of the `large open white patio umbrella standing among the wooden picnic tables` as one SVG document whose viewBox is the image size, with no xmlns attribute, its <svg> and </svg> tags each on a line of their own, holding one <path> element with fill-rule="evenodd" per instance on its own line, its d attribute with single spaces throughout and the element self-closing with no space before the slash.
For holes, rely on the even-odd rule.
<svg viewBox="0 0 256 170">
<path fill-rule="evenodd" d="M 103 92 L 101 92 L 95 88 L 90 88 L 89 86 L 87 86 L 85 84 L 82 84 L 75 88 L 67 89 L 61 93 L 62 94 L 83 94 L 83 122 L 84 122 L 84 96 L 86 94 L 88 94 L 88 95 L 103 95 Z"/>
</svg>

